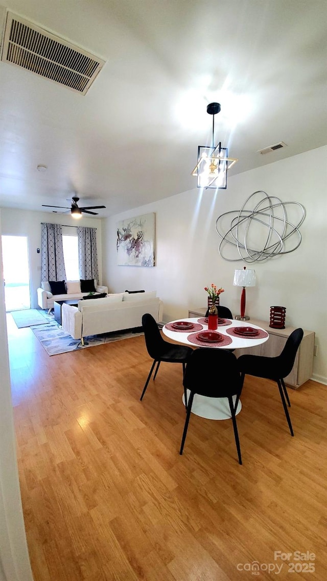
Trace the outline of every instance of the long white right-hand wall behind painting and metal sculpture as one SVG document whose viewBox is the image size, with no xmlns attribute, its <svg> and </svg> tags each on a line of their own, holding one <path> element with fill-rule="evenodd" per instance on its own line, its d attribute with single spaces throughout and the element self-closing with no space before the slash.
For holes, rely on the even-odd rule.
<svg viewBox="0 0 327 581">
<path fill-rule="evenodd" d="M 269 155 L 269 154 L 268 154 Z M 327 146 L 229 177 L 226 191 L 193 189 L 103 220 L 103 282 L 111 292 L 156 289 L 165 321 L 205 306 L 204 286 L 214 282 L 225 292 L 221 304 L 240 310 L 241 289 L 233 286 L 235 268 L 255 268 L 257 286 L 247 290 L 246 313 L 269 320 L 272 305 L 286 307 L 286 325 L 315 331 L 318 355 L 313 378 L 327 383 L 326 320 L 326 155 Z M 262 263 L 228 262 L 219 255 L 216 218 L 239 210 L 251 193 L 264 190 L 282 202 L 300 202 L 306 210 L 300 227 L 303 240 L 289 254 Z M 116 264 L 116 223 L 155 212 L 154 268 Z"/>
</svg>

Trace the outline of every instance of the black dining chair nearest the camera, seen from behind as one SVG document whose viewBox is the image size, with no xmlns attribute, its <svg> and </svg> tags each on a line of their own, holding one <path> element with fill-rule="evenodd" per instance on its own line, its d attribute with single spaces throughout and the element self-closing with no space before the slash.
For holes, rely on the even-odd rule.
<svg viewBox="0 0 327 581">
<path fill-rule="evenodd" d="M 221 372 L 217 374 L 217 370 L 221 370 Z M 187 401 L 187 414 L 179 453 L 183 454 L 194 396 L 199 394 L 205 397 L 227 397 L 230 417 L 233 422 L 237 456 L 241 464 L 241 449 L 236 424 L 236 409 L 241 392 L 241 377 L 234 353 L 223 349 L 208 349 L 206 347 L 194 350 L 186 364 L 183 385 L 184 389 L 189 389 L 190 396 Z M 233 396 L 236 396 L 236 405 L 233 402 Z"/>
</svg>

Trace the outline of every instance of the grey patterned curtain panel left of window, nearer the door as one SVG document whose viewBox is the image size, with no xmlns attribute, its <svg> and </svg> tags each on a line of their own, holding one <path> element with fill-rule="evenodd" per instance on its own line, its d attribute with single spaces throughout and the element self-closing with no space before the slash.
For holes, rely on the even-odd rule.
<svg viewBox="0 0 327 581">
<path fill-rule="evenodd" d="M 42 223 L 41 281 L 66 280 L 61 224 Z"/>
</svg>

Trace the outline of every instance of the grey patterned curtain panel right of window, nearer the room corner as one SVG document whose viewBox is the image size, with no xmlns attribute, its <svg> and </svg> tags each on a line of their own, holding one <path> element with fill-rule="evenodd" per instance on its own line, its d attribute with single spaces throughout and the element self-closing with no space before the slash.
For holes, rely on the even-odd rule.
<svg viewBox="0 0 327 581">
<path fill-rule="evenodd" d="M 77 227 L 79 240 L 79 269 L 80 278 L 89 280 L 95 278 L 99 282 L 97 228 Z"/>
</svg>

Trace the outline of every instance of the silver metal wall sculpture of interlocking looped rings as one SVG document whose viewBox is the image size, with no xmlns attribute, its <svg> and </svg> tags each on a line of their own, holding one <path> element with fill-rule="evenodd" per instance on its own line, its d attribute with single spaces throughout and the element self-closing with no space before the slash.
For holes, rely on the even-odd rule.
<svg viewBox="0 0 327 581">
<path fill-rule="evenodd" d="M 298 220 L 295 225 L 286 209 L 292 220 Z M 216 220 L 219 254 L 230 262 L 252 263 L 293 252 L 301 244 L 299 228 L 304 218 L 300 203 L 282 202 L 262 190 L 253 192 L 240 210 L 226 212 Z"/>
</svg>

